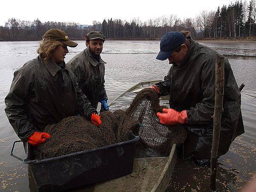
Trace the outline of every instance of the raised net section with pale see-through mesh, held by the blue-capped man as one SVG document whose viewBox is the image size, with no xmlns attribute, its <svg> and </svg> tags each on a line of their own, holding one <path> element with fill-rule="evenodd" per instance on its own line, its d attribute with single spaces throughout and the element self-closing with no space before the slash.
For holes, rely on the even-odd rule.
<svg viewBox="0 0 256 192">
<path fill-rule="evenodd" d="M 174 143 L 183 143 L 186 140 L 186 131 L 182 125 L 160 124 L 157 112 L 162 112 L 163 108 L 165 107 L 159 105 L 157 93 L 151 88 L 145 88 L 135 96 L 126 113 L 143 125 L 137 129 L 140 145 L 157 149 L 167 155 Z"/>
</svg>

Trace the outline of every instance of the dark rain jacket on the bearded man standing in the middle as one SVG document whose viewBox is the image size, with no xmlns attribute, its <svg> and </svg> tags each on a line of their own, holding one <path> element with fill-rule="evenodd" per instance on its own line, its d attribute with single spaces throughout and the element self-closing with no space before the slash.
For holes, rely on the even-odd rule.
<svg viewBox="0 0 256 192">
<path fill-rule="evenodd" d="M 97 109 L 102 99 L 107 99 L 105 90 L 105 62 L 99 57 L 99 62 L 93 58 L 88 48 L 73 57 L 67 66 L 73 71 L 82 93 Z"/>
</svg>

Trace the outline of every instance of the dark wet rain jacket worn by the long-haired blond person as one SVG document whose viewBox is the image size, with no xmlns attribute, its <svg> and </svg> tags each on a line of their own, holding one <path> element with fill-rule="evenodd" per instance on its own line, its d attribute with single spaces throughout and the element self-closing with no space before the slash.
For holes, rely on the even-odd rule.
<svg viewBox="0 0 256 192">
<path fill-rule="evenodd" d="M 90 105 L 76 83 L 73 72 L 38 56 L 15 71 L 5 98 L 6 115 L 18 137 L 26 142 L 34 131 L 43 131 L 78 113 L 88 120 L 97 111 Z"/>
</svg>

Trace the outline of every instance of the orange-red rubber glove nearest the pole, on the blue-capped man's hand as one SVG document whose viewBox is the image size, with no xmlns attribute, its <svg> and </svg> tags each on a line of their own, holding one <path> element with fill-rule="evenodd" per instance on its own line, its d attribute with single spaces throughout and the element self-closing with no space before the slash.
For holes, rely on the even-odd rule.
<svg viewBox="0 0 256 192">
<path fill-rule="evenodd" d="M 178 123 L 188 123 L 188 116 L 186 110 L 178 112 L 174 109 L 163 109 L 163 113 L 157 113 L 160 123 L 163 125 L 176 125 Z"/>
</svg>

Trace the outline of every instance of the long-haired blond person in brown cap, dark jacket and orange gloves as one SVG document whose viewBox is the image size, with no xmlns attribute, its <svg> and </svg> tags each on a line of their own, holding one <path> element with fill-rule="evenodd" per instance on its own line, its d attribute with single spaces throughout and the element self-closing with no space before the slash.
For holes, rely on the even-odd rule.
<svg viewBox="0 0 256 192">
<path fill-rule="evenodd" d="M 14 73 L 5 111 L 23 143 L 44 143 L 50 137 L 43 132 L 46 125 L 68 116 L 79 114 L 95 125 L 101 124 L 96 109 L 81 93 L 73 72 L 65 64 L 67 46 L 77 44 L 64 31 L 49 29 L 40 41 L 38 57 Z"/>
</svg>

